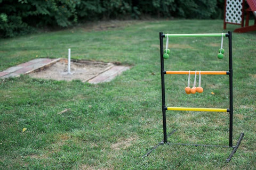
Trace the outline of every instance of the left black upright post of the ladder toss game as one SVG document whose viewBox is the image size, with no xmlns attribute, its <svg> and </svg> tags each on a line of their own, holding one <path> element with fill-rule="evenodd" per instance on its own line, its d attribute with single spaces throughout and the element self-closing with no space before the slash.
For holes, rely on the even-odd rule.
<svg viewBox="0 0 256 170">
<path fill-rule="evenodd" d="M 164 132 L 164 143 L 167 143 L 166 133 L 166 107 L 165 107 L 165 87 L 164 87 L 164 46 L 163 46 L 163 32 L 159 32 L 160 39 L 160 60 L 161 60 L 161 83 L 162 83 L 162 112 L 163 112 L 163 132 Z"/>
</svg>

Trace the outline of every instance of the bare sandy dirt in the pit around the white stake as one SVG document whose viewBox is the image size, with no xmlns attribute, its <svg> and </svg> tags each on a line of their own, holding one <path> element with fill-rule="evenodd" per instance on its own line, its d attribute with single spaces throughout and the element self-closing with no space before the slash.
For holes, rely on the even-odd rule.
<svg viewBox="0 0 256 170">
<path fill-rule="evenodd" d="M 57 63 L 44 67 L 36 72 L 29 73 L 32 78 L 53 79 L 53 80 L 81 80 L 89 81 L 100 73 L 103 73 L 113 67 L 113 63 L 75 61 L 70 62 L 70 74 L 68 73 L 68 60 L 62 59 Z"/>
</svg>

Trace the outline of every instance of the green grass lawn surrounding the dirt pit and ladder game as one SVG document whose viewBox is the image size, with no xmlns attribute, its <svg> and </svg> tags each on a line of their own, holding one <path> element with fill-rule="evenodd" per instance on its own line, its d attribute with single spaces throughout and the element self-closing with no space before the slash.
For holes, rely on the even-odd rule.
<svg viewBox="0 0 256 170">
<path fill-rule="evenodd" d="M 100 84 L 28 75 L 0 79 L 0 169 L 255 169 L 255 31 L 233 33 L 234 145 L 241 132 L 245 136 L 231 162 L 225 162 L 231 148 L 193 146 L 160 146 L 142 158 L 163 140 L 159 32 L 238 27 L 223 30 L 222 20 L 122 21 L 0 39 L 0 71 L 34 58 L 67 57 L 68 48 L 76 59 L 132 66 Z M 227 71 L 228 39 L 222 60 L 220 44 L 220 37 L 170 38 L 165 69 Z M 196 95 L 185 94 L 187 79 L 166 75 L 167 106 L 229 107 L 228 77 L 202 75 L 204 92 Z M 170 142 L 228 146 L 227 113 L 167 111 L 166 116 L 167 133 L 177 129 Z"/>
</svg>

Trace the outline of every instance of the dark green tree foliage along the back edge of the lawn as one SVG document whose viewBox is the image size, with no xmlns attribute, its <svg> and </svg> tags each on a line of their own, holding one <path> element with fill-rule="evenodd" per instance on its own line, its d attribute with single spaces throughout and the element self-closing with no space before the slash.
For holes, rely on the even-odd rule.
<svg viewBox="0 0 256 170">
<path fill-rule="evenodd" d="M 219 18 L 223 0 L 0 0 L 0 36 L 14 37 L 42 27 L 68 27 L 101 19 L 142 16 Z"/>
</svg>

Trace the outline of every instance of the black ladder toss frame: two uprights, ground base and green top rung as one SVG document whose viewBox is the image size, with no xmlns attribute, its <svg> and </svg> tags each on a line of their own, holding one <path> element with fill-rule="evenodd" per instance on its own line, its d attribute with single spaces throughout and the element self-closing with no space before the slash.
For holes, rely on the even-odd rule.
<svg viewBox="0 0 256 170">
<path fill-rule="evenodd" d="M 197 145 L 197 144 L 190 144 L 190 143 L 169 143 L 167 142 L 167 138 L 169 138 L 176 130 L 173 130 L 168 136 L 166 132 L 166 111 L 169 110 L 169 107 L 166 107 L 165 105 L 165 83 L 164 83 L 164 75 L 166 74 L 166 71 L 164 70 L 164 58 L 163 58 L 163 52 L 164 52 L 164 46 L 163 46 L 163 38 L 165 36 L 163 32 L 159 32 L 159 40 L 160 40 L 160 58 L 161 58 L 161 82 L 162 82 L 162 113 L 163 113 L 163 135 L 164 139 L 163 141 L 159 142 L 155 147 L 153 147 L 150 151 L 147 152 L 147 154 L 143 155 L 143 157 L 147 157 L 153 150 L 155 150 L 157 147 L 161 145 L 182 145 L 182 146 L 203 146 L 203 147 L 231 147 L 233 148 L 231 154 L 226 159 L 226 162 L 230 162 L 231 158 L 235 154 L 236 150 L 238 149 L 243 137 L 244 133 L 240 134 L 240 137 L 236 143 L 235 146 L 233 146 L 233 64 L 232 64 L 232 32 L 228 31 L 228 33 L 225 33 L 225 36 L 228 37 L 228 49 L 229 49 L 229 71 L 227 71 L 227 74 L 229 75 L 229 109 L 227 109 L 227 112 L 229 112 L 229 145 L 228 146 L 219 146 L 219 145 Z M 214 37 L 214 36 L 223 36 L 223 34 L 219 33 L 205 33 L 205 34 L 177 34 L 177 35 L 170 35 L 170 37 Z M 204 108 L 203 108 L 204 109 Z M 207 108 L 205 108 L 207 109 Z M 172 110 L 172 109 L 171 109 Z M 179 110 L 179 109 L 178 109 Z M 181 110 L 179 110 L 181 111 Z M 189 110 L 187 110 L 189 111 Z M 212 111 L 210 111 L 212 112 Z M 214 112 L 214 111 L 213 111 Z"/>
</svg>

